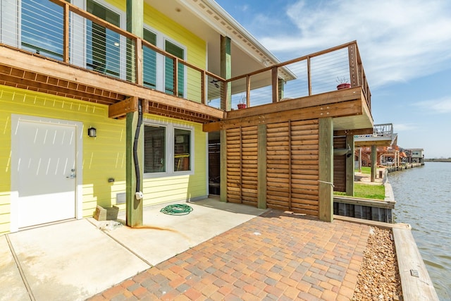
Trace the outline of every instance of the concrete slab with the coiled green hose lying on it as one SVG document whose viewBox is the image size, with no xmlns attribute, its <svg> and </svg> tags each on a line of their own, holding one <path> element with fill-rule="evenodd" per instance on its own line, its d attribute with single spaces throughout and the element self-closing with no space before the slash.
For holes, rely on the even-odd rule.
<svg viewBox="0 0 451 301">
<path fill-rule="evenodd" d="M 167 204 L 144 208 L 142 227 L 122 226 L 105 230 L 105 233 L 148 264 L 156 265 L 265 211 L 242 204 L 223 203 L 217 199 L 187 204 L 193 210 L 181 216 L 161 213 L 160 210 Z M 118 216 L 118 220 L 121 219 L 125 223 L 123 213 Z M 89 221 L 97 226 L 104 223 L 94 219 Z"/>
</svg>

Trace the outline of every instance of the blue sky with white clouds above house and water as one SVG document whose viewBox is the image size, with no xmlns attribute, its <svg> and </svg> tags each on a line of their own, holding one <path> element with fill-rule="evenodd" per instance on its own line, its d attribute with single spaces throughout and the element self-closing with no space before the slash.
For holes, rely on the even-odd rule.
<svg viewBox="0 0 451 301">
<path fill-rule="evenodd" d="M 216 0 L 280 61 L 357 40 L 374 124 L 451 157 L 451 1 Z"/>
</svg>

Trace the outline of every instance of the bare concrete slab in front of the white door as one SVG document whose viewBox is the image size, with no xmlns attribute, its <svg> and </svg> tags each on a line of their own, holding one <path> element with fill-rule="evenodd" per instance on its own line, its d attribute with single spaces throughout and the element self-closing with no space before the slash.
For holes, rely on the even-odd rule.
<svg viewBox="0 0 451 301">
<path fill-rule="evenodd" d="M 86 219 L 8 238 L 35 300 L 85 300 L 150 267 Z M 8 289 L 0 291 L 0 299 L 26 300 L 4 299 Z"/>
</svg>

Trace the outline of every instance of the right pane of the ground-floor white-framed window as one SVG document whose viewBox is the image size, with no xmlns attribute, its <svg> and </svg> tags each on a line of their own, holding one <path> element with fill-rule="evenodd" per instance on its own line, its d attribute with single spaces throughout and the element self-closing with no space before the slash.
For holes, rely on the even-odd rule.
<svg viewBox="0 0 451 301">
<path fill-rule="evenodd" d="M 174 129 L 174 171 L 190 171 L 191 131 Z"/>
</svg>

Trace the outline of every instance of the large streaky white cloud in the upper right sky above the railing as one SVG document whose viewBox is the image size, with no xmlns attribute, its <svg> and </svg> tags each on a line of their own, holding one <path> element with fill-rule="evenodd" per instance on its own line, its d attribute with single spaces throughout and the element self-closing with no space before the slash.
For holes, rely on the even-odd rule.
<svg viewBox="0 0 451 301">
<path fill-rule="evenodd" d="M 278 56 L 293 59 L 357 40 L 371 87 L 451 66 L 450 1 L 311 2 L 297 1 L 287 8 L 293 32 L 260 32 L 260 41 Z"/>
</svg>

